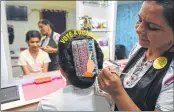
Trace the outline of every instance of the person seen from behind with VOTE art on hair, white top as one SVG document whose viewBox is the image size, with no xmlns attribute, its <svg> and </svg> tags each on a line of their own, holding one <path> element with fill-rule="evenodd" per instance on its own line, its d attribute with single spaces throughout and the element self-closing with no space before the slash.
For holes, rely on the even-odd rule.
<svg viewBox="0 0 174 112">
<path fill-rule="evenodd" d="M 67 86 L 45 96 L 38 111 L 113 111 L 111 97 L 97 83 L 103 53 L 84 30 L 68 30 L 59 39 L 59 70 Z"/>
</svg>

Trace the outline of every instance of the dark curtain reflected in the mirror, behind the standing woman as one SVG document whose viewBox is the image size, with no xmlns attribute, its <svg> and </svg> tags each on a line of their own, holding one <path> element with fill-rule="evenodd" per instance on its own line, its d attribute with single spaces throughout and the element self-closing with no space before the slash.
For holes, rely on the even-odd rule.
<svg viewBox="0 0 174 112">
<path fill-rule="evenodd" d="M 41 15 L 42 19 L 47 19 L 53 24 L 55 32 L 61 34 L 66 30 L 66 11 L 44 9 Z"/>
</svg>

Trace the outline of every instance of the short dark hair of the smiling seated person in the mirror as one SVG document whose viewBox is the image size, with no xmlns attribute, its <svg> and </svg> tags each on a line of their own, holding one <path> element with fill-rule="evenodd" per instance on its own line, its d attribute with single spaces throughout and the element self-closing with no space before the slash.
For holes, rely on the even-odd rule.
<svg viewBox="0 0 174 112">
<path fill-rule="evenodd" d="M 37 30 L 29 30 L 26 33 L 26 42 L 28 42 L 31 38 L 37 37 L 39 40 L 41 40 L 41 34 Z"/>
</svg>

